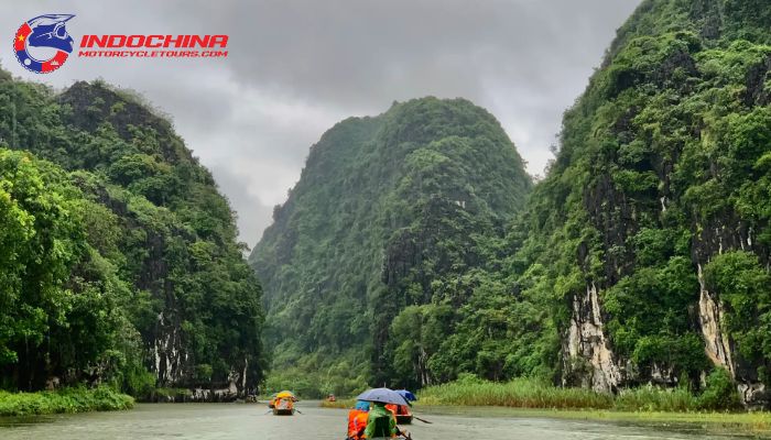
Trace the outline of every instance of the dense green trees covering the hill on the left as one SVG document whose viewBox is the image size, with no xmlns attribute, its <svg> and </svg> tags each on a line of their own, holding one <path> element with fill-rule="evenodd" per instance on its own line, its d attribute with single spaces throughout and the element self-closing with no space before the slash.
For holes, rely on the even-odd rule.
<svg viewBox="0 0 771 440">
<path fill-rule="evenodd" d="M 0 389 L 256 386 L 261 289 L 236 237 L 210 174 L 139 98 L 2 75 Z"/>
</svg>

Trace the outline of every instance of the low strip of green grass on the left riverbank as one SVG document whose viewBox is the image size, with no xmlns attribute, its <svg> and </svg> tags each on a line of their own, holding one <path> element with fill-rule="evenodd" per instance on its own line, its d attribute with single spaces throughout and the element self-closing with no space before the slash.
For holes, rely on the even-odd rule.
<svg viewBox="0 0 771 440">
<path fill-rule="evenodd" d="M 129 409 L 134 399 L 112 388 L 65 388 L 56 392 L 8 393 L 0 391 L 0 416 L 109 411 Z"/>
</svg>

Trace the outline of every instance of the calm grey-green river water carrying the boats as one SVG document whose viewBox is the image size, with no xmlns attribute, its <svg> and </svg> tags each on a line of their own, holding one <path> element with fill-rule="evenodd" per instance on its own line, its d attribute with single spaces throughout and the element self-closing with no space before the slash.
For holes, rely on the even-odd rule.
<svg viewBox="0 0 771 440">
<path fill-rule="evenodd" d="M 318 403 L 300 403 L 303 414 L 273 416 L 265 405 L 254 404 L 143 404 L 116 413 L 43 416 L 32 419 L 0 418 L 0 439 L 249 439 L 249 440 L 343 440 L 344 409 L 322 409 Z M 712 435 L 698 426 L 658 427 L 618 422 L 594 422 L 532 418 L 498 411 L 482 416 L 479 408 L 460 409 L 463 415 L 419 416 L 406 427 L 415 440 L 648 440 L 648 439 L 740 439 Z M 489 413 L 488 413 L 489 414 Z"/>
</svg>

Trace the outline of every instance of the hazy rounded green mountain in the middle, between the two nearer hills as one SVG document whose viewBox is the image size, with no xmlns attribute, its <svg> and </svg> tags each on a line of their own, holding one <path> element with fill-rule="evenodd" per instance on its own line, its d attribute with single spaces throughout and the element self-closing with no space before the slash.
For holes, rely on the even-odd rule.
<svg viewBox="0 0 771 440">
<path fill-rule="evenodd" d="M 416 333 L 439 344 L 474 319 L 474 272 L 498 260 L 530 187 L 499 123 L 465 100 L 416 99 L 335 125 L 250 258 L 274 385 L 433 381 L 438 345 L 423 352 Z"/>
</svg>

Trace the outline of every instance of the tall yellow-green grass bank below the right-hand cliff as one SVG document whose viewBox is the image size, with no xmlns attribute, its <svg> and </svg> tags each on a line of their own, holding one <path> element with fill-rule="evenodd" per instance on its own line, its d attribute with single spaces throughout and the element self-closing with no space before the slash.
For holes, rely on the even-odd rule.
<svg viewBox="0 0 771 440">
<path fill-rule="evenodd" d="M 712 432 L 771 435 L 771 413 L 741 410 L 730 381 L 721 373 L 707 381 L 701 394 L 685 388 L 643 386 L 618 395 L 584 388 L 561 388 L 532 380 L 492 383 L 467 377 L 426 387 L 419 393 L 417 411 L 467 415 L 469 407 L 488 416 L 542 417 L 612 421 L 662 427 L 701 426 Z"/>
</svg>

